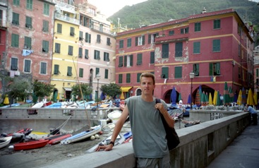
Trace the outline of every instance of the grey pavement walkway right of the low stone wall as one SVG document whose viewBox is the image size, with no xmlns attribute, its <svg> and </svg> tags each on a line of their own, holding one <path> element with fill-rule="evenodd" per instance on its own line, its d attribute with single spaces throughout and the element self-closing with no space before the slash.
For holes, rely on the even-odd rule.
<svg viewBox="0 0 259 168">
<path fill-rule="evenodd" d="M 207 168 L 259 167 L 259 125 L 250 125 Z"/>
</svg>

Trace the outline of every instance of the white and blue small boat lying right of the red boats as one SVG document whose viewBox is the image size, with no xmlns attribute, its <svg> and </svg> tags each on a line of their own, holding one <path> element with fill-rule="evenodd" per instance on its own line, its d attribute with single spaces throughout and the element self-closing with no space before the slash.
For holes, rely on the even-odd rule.
<svg viewBox="0 0 259 168">
<path fill-rule="evenodd" d="M 61 144 L 68 144 L 68 143 L 76 143 L 80 140 L 84 140 L 86 138 L 90 138 L 90 136 L 94 136 L 95 134 L 101 131 L 101 126 L 93 126 L 87 131 L 83 131 L 81 133 L 77 133 L 74 136 L 61 140 Z"/>
</svg>

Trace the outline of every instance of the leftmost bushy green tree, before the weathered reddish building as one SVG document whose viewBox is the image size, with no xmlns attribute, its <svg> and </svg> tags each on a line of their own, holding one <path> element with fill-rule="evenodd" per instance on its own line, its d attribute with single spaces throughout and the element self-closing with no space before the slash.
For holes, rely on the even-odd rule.
<svg viewBox="0 0 259 168">
<path fill-rule="evenodd" d="M 23 101 L 32 92 L 32 85 L 27 78 L 13 78 L 13 82 L 7 88 L 9 97 Z"/>
</svg>

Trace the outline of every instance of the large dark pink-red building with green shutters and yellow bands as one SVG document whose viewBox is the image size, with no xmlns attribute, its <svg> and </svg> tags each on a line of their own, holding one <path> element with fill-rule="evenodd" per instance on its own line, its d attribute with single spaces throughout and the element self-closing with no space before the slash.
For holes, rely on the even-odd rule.
<svg viewBox="0 0 259 168">
<path fill-rule="evenodd" d="M 189 74 L 193 71 L 193 89 Z M 116 83 L 124 97 L 140 95 L 139 76 L 156 76 L 155 97 L 170 103 L 173 87 L 187 104 L 199 87 L 214 95 L 224 93 L 227 82 L 233 92 L 253 88 L 253 38 L 232 9 L 200 13 L 119 32 L 116 37 Z"/>
</svg>

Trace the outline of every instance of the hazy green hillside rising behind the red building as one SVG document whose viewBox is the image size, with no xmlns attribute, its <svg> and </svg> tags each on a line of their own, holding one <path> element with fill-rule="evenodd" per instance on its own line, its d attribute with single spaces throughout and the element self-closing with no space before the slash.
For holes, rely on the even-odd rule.
<svg viewBox="0 0 259 168">
<path fill-rule="evenodd" d="M 186 18 L 201 13 L 204 7 L 207 12 L 233 8 L 244 22 L 253 24 L 258 31 L 259 5 L 248 0 L 148 0 L 133 6 L 125 6 L 108 19 L 117 24 L 120 18 L 121 26 L 139 28 L 140 25 Z"/>
</svg>

